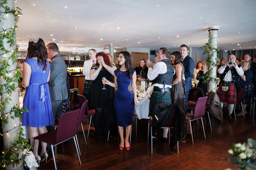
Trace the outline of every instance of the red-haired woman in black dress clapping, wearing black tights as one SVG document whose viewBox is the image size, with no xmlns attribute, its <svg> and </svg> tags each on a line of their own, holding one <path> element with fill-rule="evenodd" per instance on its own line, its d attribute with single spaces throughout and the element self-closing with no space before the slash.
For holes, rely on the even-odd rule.
<svg viewBox="0 0 256 170">
<path fill-rule="evenodd" d="M 107 101 L 109 98 L 115 96 L 115 88 L 102 84 L 102 77 L 113 82 L 114 71 L 116 70 L 115 64 L 110 62 L 108 55 L 105 52 L 96 54 L 97 62 L 92 65 L 90 70 L 90 79 L 92 84 L 89 90 L 89 105 L 94 107 L 95 115 L 94 128 L 95 136 L 104 138 L 108 134 L 105 131 L 106 127 L 106 114 L 107 114 Z M 105 89 L 103 89 L 105 87 Z M 101 126 L 99 131 L 99 125 Z"/>
</svg>

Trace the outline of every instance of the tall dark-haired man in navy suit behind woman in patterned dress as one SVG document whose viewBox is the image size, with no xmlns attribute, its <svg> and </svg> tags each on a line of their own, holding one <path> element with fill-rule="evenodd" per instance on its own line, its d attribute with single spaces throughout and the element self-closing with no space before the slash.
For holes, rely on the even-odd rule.
<svg viewBox="0 0 256 170">
<path fill-rule="evenodd" d="M 189 57 L 187 54 L 189 52 L 188 47 L 186 45 L 181 45 L 179 48 L 179 51 L 181 53 L 182 59 L 183 59 L 183 66 L 184 66 L 184 75 L 185 75 L 185 86 L 186 86 L 186 91 L 187 93 L 185 94 L 185 105 L 187 112 L 189 112 L 189 107 L 187 103 L 187 98 L 189 95 L 189 90 L 191 89 L 192 86 L 192 78 L 191 76 L 193 75 L 193 71 L 195 68 L 195 62 L 194 60 Z"/>
</svg>

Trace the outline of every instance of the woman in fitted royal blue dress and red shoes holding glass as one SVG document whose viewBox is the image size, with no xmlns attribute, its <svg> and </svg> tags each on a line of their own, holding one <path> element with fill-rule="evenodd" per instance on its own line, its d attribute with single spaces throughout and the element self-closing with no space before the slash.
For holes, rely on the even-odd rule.
<svg viewBox="0 0 256 170">
<path fill-rule="evenodd" d="M 114 107 L 117 116 L 117 126 L 121 142 L 119 149 L 130 150 L 129 135 L 132 126 L 132 116 L 135 105 L 139 103 L 136 91 L 136 71 L 133 69 L 131 54 L 121 51 L 118 57 L 118 68 L 114 71 L 115 82 L 106 80 L 105 84 L 117 88 L 114 98 Z M 135 105 L 134 105 L 135 104 Z M 125 127 L 125 139 L 123 137 Z"/>
</svg>

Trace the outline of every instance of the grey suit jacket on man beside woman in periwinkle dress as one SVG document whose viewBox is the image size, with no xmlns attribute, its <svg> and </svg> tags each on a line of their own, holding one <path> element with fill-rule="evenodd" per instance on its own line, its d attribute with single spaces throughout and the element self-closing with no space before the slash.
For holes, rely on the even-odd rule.
<svg viewBox="0 0 256 170">
<path fill-rule="evenodd" d="M 57 54 L 50 61 L 49 91 L 51 100 L 67 99 L 67 66 L 61 55 Z"/>
</svg>

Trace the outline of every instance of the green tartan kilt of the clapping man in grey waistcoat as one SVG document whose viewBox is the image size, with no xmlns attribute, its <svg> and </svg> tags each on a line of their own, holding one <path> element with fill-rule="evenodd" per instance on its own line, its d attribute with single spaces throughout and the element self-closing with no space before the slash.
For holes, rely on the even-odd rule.
<svg viewBox="0 0 256 170">
<path fill-rule="evenodd" d="M 149 116 L 154 115 L 155 107 L 158 103 L 167 103 L 171 104 L 171 92 L 167 92 L 163 97 L 161 97 L 164 94 L 164 92 L 152 92 L 150 96 L 150 101 L 149 101 Z"/>
</svg>

